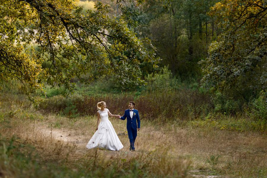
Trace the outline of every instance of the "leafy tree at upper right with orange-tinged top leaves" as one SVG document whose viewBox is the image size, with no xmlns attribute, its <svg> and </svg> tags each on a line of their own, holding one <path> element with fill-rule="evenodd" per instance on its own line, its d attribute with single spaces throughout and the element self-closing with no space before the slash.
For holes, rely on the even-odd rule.
<svg viewBox="0 0 267 178">
<path fill-rule="evenodd" d="M 222 33 L 202 60 L 202 82 L 209 88 L 236 91 L 245 100 L 267 87 L 267 2 L 223 0 L 210 12 Z M 255 94 L 254 94 L 255 95 Z"/>
</svg>

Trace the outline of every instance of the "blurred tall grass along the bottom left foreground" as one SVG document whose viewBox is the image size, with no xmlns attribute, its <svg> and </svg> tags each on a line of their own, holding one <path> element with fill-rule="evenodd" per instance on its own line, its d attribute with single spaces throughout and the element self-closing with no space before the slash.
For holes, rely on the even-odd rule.
<svg viewBox="0 0 267 178">
<path fill-rule="evenodd" d="M 166 147 L 133 156 L 121 151 L 109 157 L 102 150 L 84 152 L 84 145 L 81 149 L 78 144 L 57 140 L 54 131 L 51 137 L 47 136 L 33 129 L 30 119 L 7 117 L 7 120 L 9 122 L 1 122 L 0 130 L 1 177 L 188 176 L 189 161 L 171 158 Z"/>
</svg>

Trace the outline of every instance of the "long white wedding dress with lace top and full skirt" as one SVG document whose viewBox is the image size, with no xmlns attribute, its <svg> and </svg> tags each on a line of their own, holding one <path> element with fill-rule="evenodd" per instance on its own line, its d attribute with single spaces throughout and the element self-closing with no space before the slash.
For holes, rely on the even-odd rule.
<svg viewBox="0 0 267 178">
<path fill-rule="evenodd" d="M 105 148 L 107 150 L 118 151 L 123 148 L 119 137 L 117 136 L 111 122 L 108 120 L 108 109 L 97 111 L 100 115 L 101 122 L 97 131 L 89 140 L 86 148 Z"/>
</svg>

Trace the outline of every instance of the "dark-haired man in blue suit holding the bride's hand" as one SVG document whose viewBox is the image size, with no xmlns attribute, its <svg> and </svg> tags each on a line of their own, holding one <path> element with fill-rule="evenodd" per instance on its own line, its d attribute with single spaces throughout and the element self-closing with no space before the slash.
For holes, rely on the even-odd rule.
<svg viewBox="0 0 267 178">
<path fill-rule="evenodd" d="M 127 118 L 127 131 L 128 137 L 130 140 L 130 150 L 135 151 L 135 139 L 137 136 L 137 131 L 140 130 L 140 117 L 138 110 L 134 109 L 135 103 L 129 103 L 129 109 L 124 111 L 124 115 L 121 117 L 118 116 L 121 120 L 125 120 Z M 137 121 L 137 125 L 136 125 Z"/>
</svg>

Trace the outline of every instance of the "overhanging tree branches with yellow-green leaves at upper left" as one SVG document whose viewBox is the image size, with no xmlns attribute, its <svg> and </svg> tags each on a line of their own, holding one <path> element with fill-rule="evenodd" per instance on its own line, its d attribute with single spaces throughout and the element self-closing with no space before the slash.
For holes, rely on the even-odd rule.
<svg viewBox="0 0 267 178">
<path fill-rule="evenodd" d="M 123 9 L 122 2 L 116 1 Z M 27 94 L 43 91 L 44 83 L 72 90 L 72 77 L 91 82 L 101 74 L 138 84 L 138 58 L 157 63 L 154 47 L 143 47 L 149 40 L 138 39 L 125 15 L 109 16 L 100 2 L 85 15 L 72 0 L 2 0 L 0 6 L 0 77 L 20 80 Z"/>
</svg>

